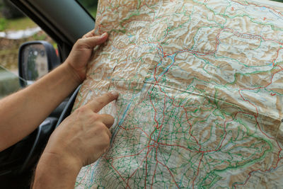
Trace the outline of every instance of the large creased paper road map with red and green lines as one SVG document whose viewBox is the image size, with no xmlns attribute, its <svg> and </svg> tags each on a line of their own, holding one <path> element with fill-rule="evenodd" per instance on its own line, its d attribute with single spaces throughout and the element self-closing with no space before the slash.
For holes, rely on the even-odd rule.
<svg viewBox="0 0 283 189">
<path fill-rule="evenodd" d="M 281 188 L 283 8 L 103 0 L 74 110 L 116 90 L 110 149 L 76 188 Z"/>
</svg>

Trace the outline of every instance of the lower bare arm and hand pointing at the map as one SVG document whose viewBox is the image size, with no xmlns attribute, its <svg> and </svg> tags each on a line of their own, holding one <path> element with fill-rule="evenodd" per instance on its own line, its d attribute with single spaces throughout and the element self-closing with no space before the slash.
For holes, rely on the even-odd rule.
<svg viewBox="0 0 283 189">
<path fill-rule="evenodd" d="M 33 188 L 74 188 L 81 166 L 96 161 L 110 145 L 114 118 L 98 111 L 118 97 L 106 93 L 77 109 L 53 132 L 35 171 Z"/>
</svg>

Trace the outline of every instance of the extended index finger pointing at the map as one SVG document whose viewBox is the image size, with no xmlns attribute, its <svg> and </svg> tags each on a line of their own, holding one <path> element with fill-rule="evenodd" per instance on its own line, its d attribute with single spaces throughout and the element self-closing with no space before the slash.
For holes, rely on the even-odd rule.
<svg viewBox="0 0 283 189">
<path fill-rule="evenodd" d="M 93 101 L 86 104 L 86 106 L 91 108 L 94 113 L 98 113 L 105 105 L 108 105 L 108 103 L 117 99 L 118 96 L 119 93 L 117 91 L 111 91 L 99 96 L 98 98 L 95 98 Z"/>
</svg>

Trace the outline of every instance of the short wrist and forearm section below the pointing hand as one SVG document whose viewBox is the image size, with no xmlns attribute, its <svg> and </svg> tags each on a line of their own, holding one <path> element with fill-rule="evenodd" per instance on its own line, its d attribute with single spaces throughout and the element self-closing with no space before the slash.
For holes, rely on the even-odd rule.
<svg viewBox="0 0 283 189">
<path fill-rule="evenodd" d="M 42 154 L 35 171 L 33 188 L 74 188 L 81 166 L 58 154 Z"/>
</svg>

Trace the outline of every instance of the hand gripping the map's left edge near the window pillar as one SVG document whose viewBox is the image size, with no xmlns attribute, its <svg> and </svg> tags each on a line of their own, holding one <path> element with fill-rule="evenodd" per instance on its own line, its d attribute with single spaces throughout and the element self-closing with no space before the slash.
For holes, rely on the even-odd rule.
<svg viewBox="0 0 283 189">
<path fill-rule="evenodd" d="M 93 48 L 105 42 L 107 38 L 108 33 L 96 36 L 94 30 L 91 30 L 74 44 L 66 63 L 74 70 L 80 83 L 86 78 L 86 65 L 93 55 Z"/>
</svg>

